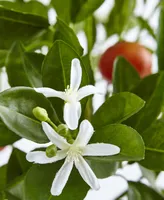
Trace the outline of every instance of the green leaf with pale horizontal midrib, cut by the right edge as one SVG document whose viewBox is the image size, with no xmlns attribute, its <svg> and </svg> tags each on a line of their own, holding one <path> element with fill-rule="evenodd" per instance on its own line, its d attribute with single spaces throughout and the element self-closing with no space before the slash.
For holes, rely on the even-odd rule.
<svg viewBox="0 0 164 200">
<path fill-rule="evenodd" d="M 142 133 L 146 146 L 145 159 L 140 163 L 144 167 L 155 170 L 164 170 L 164 122 L 157 120 Z"/>
</svg>

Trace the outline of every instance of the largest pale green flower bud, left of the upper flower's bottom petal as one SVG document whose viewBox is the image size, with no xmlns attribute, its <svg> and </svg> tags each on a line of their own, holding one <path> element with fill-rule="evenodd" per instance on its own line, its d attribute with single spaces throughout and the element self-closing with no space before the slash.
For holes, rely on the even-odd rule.
<svg viewBox="0 0 164 200">
<path fill-rule="evenodd" d="M 36 117 L 36 119 L 40 121 L 46 122 L 49 119 L 48 113 L 44 108 L 36 107 L 32 110 L 32 112 L 33 112 L 33 115 Z"/>
</svg>

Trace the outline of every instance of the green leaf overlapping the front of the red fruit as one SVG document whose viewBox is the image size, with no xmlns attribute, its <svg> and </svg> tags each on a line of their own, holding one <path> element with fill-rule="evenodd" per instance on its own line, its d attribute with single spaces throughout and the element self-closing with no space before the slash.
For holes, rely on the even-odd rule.
<svg viewBox="0 0 164 200">
<path fill-rule="evenodd" d="M 114 93 L 130 91 L 139 81 L 136 69 L 125 58 L 117 57 L 113 72 Z"/>
</svg>

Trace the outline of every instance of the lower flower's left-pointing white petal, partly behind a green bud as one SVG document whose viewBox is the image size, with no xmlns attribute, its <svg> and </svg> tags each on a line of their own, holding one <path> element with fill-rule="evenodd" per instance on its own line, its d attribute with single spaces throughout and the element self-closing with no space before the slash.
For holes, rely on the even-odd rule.
<svg viewBox="0 0 164 200">
<path fill-rule="evenodd" d="M 53 163 L 58 160 L 64 159 L 67 155 L 66 153 L 67 152 L 65 150 L 61 150 L 61 151 L 57 152 L 56 156 L 54 156 L 52 158 L 48 158 L 44 151 L 33 151 L 33 152 L 29 152 L 26 155 L 26 159 L 29 162 L 34 162 L 34 163 L 38 163 L 38 164 L 47 164 L 47 163 Z"/>
</svg>

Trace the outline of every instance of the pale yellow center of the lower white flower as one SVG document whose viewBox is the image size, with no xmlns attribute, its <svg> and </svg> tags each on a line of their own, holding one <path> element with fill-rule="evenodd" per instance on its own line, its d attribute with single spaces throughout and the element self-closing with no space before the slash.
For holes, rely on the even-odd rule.
<svg viewBox="0 0 164 200">
<path fill-rule="evenodd" d="M 67 160 L 78 162 L 79 156 L 82 155 L 82 150 L 79 147 L 71 146 L 69 151 L 67 152 Z"/>
</svg>

